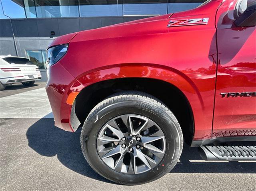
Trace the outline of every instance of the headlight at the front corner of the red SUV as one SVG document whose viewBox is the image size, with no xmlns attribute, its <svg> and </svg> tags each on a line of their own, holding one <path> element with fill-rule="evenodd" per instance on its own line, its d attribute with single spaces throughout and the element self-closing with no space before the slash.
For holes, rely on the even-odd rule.
<svg viewBox="0 0 256 191">
<path fill-rule="evenodd" d="M 47 50 L 46 67 L 50 67 L 58 62 L 67 52 L 68 44 L 51 47 Z"/>
</svg>

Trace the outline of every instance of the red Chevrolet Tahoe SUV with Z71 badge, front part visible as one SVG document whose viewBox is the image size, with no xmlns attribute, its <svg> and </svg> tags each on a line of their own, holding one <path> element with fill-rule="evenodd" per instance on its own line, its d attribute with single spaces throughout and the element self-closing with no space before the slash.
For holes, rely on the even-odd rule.
<svg viewBox="0 0 256 191">
<path fill-rule="evenodd" d="M 55 126 L 81 127 L 90 166 L 126 185 L 168 173 L 184 141 L 206 160 L 255 159 L 239 142 L 256 140 L 255 18 L 255 0 L 208 0 L 56 38 L 46 63 Z"/>
</svg>

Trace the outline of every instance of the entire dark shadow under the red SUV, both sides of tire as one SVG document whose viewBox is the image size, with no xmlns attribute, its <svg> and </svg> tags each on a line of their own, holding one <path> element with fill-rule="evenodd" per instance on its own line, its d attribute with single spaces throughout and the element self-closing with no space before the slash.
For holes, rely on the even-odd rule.
<svg viewBox="0 0 256 191">
<path fill-rule="evenodd" d="M 69 169 L 86 177 L 110 182 L 88 165 L 80 148 L 81 128 L 76 132 L 65 132 L 54 126 L 53 118 L 42 118 L 30 126 L 26 132 L 28 146 L 42 156 L 53 157 Z M 201 160 L 201 161 L 191 161 Z M 204 162 L 198 148 L 184 145 L 180 162 L 170 173 L 255 173 L 254 162 Z"/>
</svg>

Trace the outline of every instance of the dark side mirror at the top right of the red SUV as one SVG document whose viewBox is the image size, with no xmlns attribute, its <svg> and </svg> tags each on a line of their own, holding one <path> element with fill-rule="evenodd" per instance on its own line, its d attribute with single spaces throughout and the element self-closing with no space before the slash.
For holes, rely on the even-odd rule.
<svg viewBox="0 0 256 191">
<path fill-rule="evenodd" d="M 246 8 L 246 10 L 234 21 L 234 24 L 237 27 L 256 26 L 256 2 Z"/>
</svg>

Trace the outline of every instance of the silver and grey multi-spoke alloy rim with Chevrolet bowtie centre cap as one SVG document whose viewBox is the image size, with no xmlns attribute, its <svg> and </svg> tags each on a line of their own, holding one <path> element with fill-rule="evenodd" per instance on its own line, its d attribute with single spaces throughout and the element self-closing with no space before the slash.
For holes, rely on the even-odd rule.
<svg viewBox="0 0 256 191">
<path fill-rule="evenodd" d="M 149 118 L 126 114 L 102 127 L 97 150 L 102 161 L 115 171 L 138 174 L 158 165 L 165 154 L 166 139 Z"/>
</svg>

